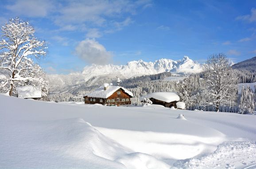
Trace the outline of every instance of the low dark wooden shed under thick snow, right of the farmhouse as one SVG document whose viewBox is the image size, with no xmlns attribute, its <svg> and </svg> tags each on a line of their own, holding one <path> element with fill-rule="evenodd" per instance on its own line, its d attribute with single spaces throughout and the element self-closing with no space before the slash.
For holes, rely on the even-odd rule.
<svg viewBox="0 0 256 169">
<path fill-rule="evenodd" d="M 176 103 L 180 100 L 176 92 L 153 92 L 141 97 L 140 101 L 142 102 L 144 98 L 150 99 L 153 104 L 160 104 L 167 108 L 172 106 L 177 108 Z"/>
</svg>

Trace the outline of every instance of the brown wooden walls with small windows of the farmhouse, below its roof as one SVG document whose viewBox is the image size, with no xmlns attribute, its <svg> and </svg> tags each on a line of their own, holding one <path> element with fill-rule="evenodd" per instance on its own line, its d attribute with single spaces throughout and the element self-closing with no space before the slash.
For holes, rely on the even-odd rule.
<svg viewBox="0 0 256 169">
<path fill-rule="evenodd" d="M 85 104 L 107 104 L 107 105 L 121 105 L 131 104 L 132 96 L 128 95 L 122 88 L 113 92 L 108 98 L 89 97 L 84 96 Z"/>
</svg>

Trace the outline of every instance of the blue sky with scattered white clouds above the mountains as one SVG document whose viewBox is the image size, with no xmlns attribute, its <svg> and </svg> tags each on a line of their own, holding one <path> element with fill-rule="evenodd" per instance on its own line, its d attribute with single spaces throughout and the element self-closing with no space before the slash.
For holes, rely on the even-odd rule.
<svg viewBox="0 0 256 169">
<path fill-rule="evenodd" d="M 19 16 L 48 43 L 39 64 L 72 73 L 90 64 L 142 59 L 203 63 L 256 56 L 255 0 L 0 0 L 0 24 Z"/>
</svg>

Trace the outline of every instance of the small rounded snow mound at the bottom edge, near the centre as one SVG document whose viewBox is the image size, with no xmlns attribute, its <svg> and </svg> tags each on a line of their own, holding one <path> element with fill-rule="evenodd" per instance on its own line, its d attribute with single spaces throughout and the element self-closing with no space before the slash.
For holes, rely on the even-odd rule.
<svg viewBox="0 0 256 169">
<path fill-rule="evenodd" d="M 144 153 L 127 154 L 116 161 L 124 164 L 128 169 L 170 169 L 170 165 Z"/>
</svg>

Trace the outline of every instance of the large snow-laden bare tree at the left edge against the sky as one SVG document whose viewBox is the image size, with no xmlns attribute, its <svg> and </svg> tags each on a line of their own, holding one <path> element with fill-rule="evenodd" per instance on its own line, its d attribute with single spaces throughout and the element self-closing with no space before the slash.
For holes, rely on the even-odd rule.
<svg viewBox="0 0 256 169">
<path fill-rule="evenodd" d="M 46 55 L 45 42 L 38 40 L 34 33 L 34 27 L 19 18 L 10 19 L 1 27 L 0 69 L 9 74 L 1 87 L 8 86 L 9 96 L 12 96 L 16 83 L 33 78 L 26 76 L 27 70 L 33 69 L 32 58 Z"/>
</svg>

